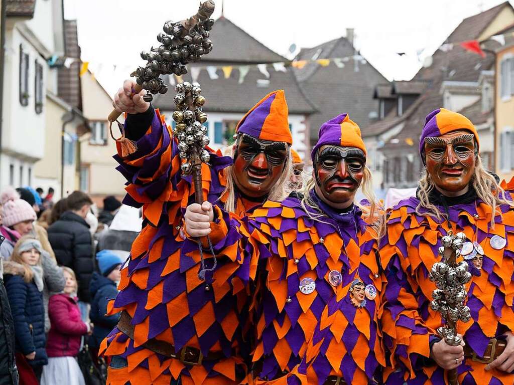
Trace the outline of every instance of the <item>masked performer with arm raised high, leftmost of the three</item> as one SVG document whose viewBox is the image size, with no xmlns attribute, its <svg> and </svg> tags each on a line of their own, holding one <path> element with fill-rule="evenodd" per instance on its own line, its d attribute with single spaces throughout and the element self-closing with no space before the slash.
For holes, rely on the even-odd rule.
<svg viewBox="0 0 514 385">
<path fill-rule="evenodd" d="M 123 203 L 143 206 L 144 221 L 108 308 L 121 316 L 100 348 L 111 358 L 107 383 L 236 384 L 247 373 L 242 325 L 248 285 L 241 273 L 247 262 L 219 258 L 213 271 L 208 258 L 206 279 L 198 278 L 203 259 L 181 228 L 181 210 L 194 198 L 191 177 L 180 174 L 171 127 L 134 86 L 125 81 L 113 105 L 127 112 L 125 136 L 137 150 L 123 158 L 118 144 L 115 158 L 128 181 Z M 236 134 L 232 158 L 212 152 L 210 167 L 203 165 L 203 193 L 243 216 L 267 197 L 288 195 L 292 138 L 284 91 L 248 111 Z"/>
</svg>

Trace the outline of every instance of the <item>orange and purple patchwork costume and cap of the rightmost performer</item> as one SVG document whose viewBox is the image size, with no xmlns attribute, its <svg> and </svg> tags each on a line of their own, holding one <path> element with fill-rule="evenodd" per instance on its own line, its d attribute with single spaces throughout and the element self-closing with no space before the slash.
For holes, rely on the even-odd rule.
<svg viewBox="0 0 514 385">
<path fill-rule="evenodd" d="M 422 156 L 425 138 L 462 129 L 472 133 L 476 144 L 479 143 L 476 129 L 463 115 L 445 109 L 433 111 L 421 134 Z M 506 198 L 512 200 L 514 180 L 503 187 L 511 191 L 506 193 Z M 418 197 L 401 201 L 389 215 L 387 235 L 379 252 L 387 278 L 381 324 L 384 344 L 391 350 L 391 360 L 384 371 L 386 383 L 445 383 L 443 369 L 429 359 L 430 346 L 438 341 L 435 330 L 443 320 L 429 306 L 436 287 L 428 273 L 440 261 L 438 247 L 450 229 L 453 234 L 464 232 L 467 237 L 468 243 L 457 262 L 465 258 L 473 276 L 467 284 L 466 301 L 471 320 L 457 323 L 457 333 L 466 342 L 465 361 L 457 367 L 458 381 L 461 384 L 514 383 L 514 374 L 497 369 L 486 371 L 486 363 L 479 362 L 491 356 L 492 338 L 501 340 L 503 333 L 514 330 L 514 208 L 503 204 L 492 213 L 491 206 L 477 196 L 471 185 L 469 188 L 466 194 L 455 198 L 442 197 L 435 188 L 430 192 L 430 203 L 441 213 L 447 213 L 447 219 L 418 215 Z M 419 210 L 427 213 L 424 207 Z M 482 265 L 475 262 L 480 256 Z M 497 354 L 485 361 L 491 362 L 499 355 L 499 346 L 494 343 Z"/>
</svg>

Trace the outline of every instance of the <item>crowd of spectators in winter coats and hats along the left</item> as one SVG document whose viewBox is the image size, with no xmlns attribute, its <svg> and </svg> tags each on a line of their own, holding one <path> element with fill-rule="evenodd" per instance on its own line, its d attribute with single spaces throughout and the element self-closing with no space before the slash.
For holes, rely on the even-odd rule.
<svg viewBox="0 0 514 385">
<path fill-rule="evenodd" d="M 84 192 L 53 192 L 0 191 L 0 385 L 86 385 L 90 368 L 101 380 L 98 349 L 118 322 L 107 302 L 140 210 L 110 196 L 98 213 Z"/>
</svg>

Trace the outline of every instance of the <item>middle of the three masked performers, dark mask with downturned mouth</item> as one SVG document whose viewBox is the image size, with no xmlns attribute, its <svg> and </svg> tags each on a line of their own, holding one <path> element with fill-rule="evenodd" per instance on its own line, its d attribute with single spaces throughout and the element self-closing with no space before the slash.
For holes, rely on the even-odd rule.
<svg viewBox="0 0 514 385">
<path fill-rule="evenodd" d="M 249 277 L 256 341 L 249 383 L 374 383 L 385 364 L 382 281 L 378 233 L 366 221 L 379 224 L 380 210 L 358 125 L 347 114 L 323 124 L 311 160 L 313 178 L 302 194 L 268 200 L 243 220 L 230 219 L 223 206 L 191 204 L 186 232 L 210 234 L 219 254 L 242 253 L 258 266 Z M 371 202 L 364 209 L 354 203 L 359 186 Z"/>
</svg>

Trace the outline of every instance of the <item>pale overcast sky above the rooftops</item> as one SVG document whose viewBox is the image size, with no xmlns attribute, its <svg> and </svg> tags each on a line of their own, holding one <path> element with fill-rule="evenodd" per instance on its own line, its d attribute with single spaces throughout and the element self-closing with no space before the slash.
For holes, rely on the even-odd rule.
<svg viewBox="0 0 514 385">
<path fill-rule="evenodd" d="M 216 1 L 214 18 L 222 11 Z M 197 10 L 198 0 L 65 0 L 77 19 L 82 60 L 109 93 L 142 64 L 141 50 L 158 45 L 168 20 Z M 225 16 L 272 50 L 313 47 L 355 28 L 361 54 L 389 80 L 409 80 L 465 18 L 501 0 L 225 0 Z M 512 0 L 511 0 L 511 4 Z M 216 42 L 214 43 L 214 47 Z M 405 52 L 399 56 L 396 53 Z M 114 66 L 116 65 L 116 69 Z"/>
</svg>

